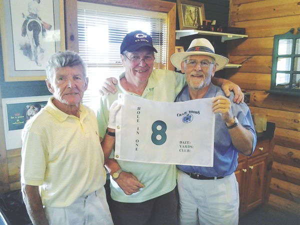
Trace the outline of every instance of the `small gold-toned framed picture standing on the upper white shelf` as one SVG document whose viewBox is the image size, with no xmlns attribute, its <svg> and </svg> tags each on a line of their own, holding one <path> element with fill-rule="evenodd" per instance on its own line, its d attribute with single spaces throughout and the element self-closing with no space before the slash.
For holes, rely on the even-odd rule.
<svg viewBox="0 0 300 225">
<path fill-rule="evenodd" d="M 204 4 L 190 0 L 177 0 L 180 29 L 197 29 L 205 19 Z"/>
</svg>

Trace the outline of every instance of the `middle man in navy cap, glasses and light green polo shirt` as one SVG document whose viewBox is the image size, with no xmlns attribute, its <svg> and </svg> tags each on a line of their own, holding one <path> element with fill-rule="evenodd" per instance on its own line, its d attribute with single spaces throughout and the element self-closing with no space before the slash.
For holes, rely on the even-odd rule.
<svg viewBox="0 0 300 225">
<path fill-rule="evenodd" d="M 117 80 L 116 92 L 101 97 L 97 111 L 101 137 L 106 131 L 104 121 L 108 121 L 109 107 L 118 93 L 173 102 L 185 85 L 181 73 L 153 69 L 154 52 L 157 50 L 147 33 L 136 30 L 124 37 L 120 57 L 125 72 Z M 241 97 L 236 99 L 240 101 Z M 105 166 L 111 175 L 110 210 L 114 224 L 177 224 L 175 165 L 115 160 L 113 151 L 110 157 Z"/>
</svg>

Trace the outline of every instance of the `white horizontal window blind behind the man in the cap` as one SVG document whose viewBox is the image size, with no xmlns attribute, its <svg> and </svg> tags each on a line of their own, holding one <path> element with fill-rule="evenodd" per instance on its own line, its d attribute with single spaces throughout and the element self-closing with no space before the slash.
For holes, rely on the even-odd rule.
<svg viewBox="0 0 300 225">
<path fill-rule="evenodd" d="M 98 89 L 107 77 L 124 71 L 120 62 L 120 44 L 134 30 L 151 35 L 155 53 L 154 68 L 166 69 L 166 13 L 77 2 L 79 54 L 87 64 L 88 89 L 83 104 L 94 111 L 98 106 Z"/>
</svg>

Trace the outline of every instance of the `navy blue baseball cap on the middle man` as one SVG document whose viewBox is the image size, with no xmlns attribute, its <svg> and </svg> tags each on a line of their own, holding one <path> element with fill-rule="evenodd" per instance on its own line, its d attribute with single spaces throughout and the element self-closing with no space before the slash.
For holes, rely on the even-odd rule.
<svg viewBox="0 0 300 225">
<path fill-rule="evenodd" d="M 153 47 L 151 36 L 141 30 L 135 30 L 127 33 L 124 37 L 120 46 L 120 53 L 122 54 L 125 50 L 133 52 L 144 46 L 150 47 L 157 53 L 157 50 Z"/>
</svg>

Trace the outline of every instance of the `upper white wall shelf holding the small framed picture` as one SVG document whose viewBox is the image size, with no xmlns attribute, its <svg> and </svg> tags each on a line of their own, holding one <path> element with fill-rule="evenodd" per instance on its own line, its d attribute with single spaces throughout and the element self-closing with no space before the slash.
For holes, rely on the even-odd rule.
<svg viewBox="0 0 300 225">
<path fill-rule="evenodd" d="M 248 36 L 248 35 L 234 34 L 234 33 L 221 33 L 221 32 L 196 30 L 196 29 L 183 29 L 183 30 L 176 30 L 176 39 L 178 40 L 180 39 L 180 37 L 193 35 L 193 34 L 221 36 L 221 42 L 224 42 L 225 40 L 239 39 Z"/>
</svg>

